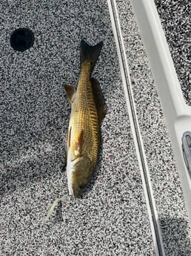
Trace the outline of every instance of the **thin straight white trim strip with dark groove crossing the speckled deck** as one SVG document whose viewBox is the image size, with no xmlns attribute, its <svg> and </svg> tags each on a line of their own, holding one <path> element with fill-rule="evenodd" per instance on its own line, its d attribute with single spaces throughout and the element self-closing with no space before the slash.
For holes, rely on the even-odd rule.
<svg viewBox="0 0 191 256">
<path fill-rule="evenodd" d="M 133 89 L 130 79 L 130 71 L 127 63 L 127 56 L 125 54 L 125 47 L 123 36 L 121 33 L 120 21 L 118 18 L 118 10 L 115 0 L 108 0 L 110 10 L 110 19 L 113 27 L 113 34 L 115 37 L 115 44 L 118 52 L 118 60 L 121 69 L 121 77 L 124 85 L 124 93 L 127 100 L 127 110 L 130 118 L 131 130 L 135 143 L 135 150 L 138 157 L 138 164 L 141 171 L 141 178 L 144 188 L 144 195 L 147 203 L 148 215 L 150 218 L 150 226 L 153 234 L 153 242 L 157 256 L 164 256 L 164 247 L 161 238 L 161 230 L 158 223 L 158 214 L 155 208 L 155 200 L 153 197 L 153 190 L 150 183 L 150 174 L 147 167 L 147 160 L 144 154 L 144 145 L 141 139 L 141 133 L 138 126 L 138 118 L 135 111 L 135 102 L 133 98 Z"/>
</svg>

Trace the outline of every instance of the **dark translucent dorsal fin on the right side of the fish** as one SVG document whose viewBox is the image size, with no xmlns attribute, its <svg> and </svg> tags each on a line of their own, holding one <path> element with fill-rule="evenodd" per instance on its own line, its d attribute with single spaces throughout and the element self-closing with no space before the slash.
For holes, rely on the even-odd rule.
<svg viewBox="0 0 191 256">
<path fill-rule="evenodd" d="M 93 96 L 96 103 L 96 109 L 98 113 L 98 119 L 101 123 L 101 121 L 104 119 L 106 115 L 107 107 L 98 80 L 96 80 L 95 78 L 91 78 L 91 83 L 93 88 Z"/>
</svg>

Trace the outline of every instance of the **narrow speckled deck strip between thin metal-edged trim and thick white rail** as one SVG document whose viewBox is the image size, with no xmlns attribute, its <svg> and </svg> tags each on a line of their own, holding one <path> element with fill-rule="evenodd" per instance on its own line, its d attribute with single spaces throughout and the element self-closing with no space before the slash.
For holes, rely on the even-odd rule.
<svg viewBox="0 0 191 256">
<path fill-rule="evenodd" d="M 129 1 L 117 1 L 166 255 L 191 255 L 191 232 L 160 102 Z"/>
</svg>

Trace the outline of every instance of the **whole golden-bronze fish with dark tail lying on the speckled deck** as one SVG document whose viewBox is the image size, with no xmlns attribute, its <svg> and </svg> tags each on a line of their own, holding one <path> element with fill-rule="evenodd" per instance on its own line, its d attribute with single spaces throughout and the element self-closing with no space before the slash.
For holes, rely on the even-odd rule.
<svg viewBox="0 0 191 256">
<path fill-rule="evenodd" d="M 79 197 L 93 176 L 101 142 L 101 122 L 106 105 L 101 86 L 91 77 L 103 42 L 88 45 L 81 40 L 80 74 L 77 89 L 64 85 L 71 104 L 67 132 L 67 185 L 69 195 Z"/>
</svg>

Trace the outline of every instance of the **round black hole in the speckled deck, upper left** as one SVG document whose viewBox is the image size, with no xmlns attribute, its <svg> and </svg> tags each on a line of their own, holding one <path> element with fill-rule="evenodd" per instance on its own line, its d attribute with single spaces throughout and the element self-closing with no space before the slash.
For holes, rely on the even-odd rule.
<svg viewBox="0 0 191 256">
<path fill-rule="evenodd" d="M 10 45 L 14 50 L 24 51 L 29 49 L 34 42 L 34 34 L 27 28 L 19 28 L 10 36 Z"/>
</svg>

